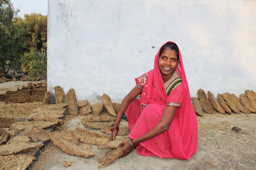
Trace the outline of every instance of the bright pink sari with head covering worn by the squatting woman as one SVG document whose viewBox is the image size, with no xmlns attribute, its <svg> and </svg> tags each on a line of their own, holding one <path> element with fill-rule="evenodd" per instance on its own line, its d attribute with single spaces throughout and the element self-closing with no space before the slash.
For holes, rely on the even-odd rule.
<svg viewBox="0 0 256 170">
<path fill-rule="evenodd" d="M 125 111 L 131 131 L 129 137 L 136 139 L 151 131 L 160 122 L 166 103 L 180 103 L 169 130 L 141 142 L 136 149 L 138 154 L 144 156 L 188 160 L 197 152 L 197 118 L 190 100 L 180 49 L 180 64 L 176 71 L 182 84 L 167 96 L 158 66 L 161 48 L 155 56 L 154 69 L 135 79 L 143 91 L 141 99 L 134 99 Z"/>
</svg>

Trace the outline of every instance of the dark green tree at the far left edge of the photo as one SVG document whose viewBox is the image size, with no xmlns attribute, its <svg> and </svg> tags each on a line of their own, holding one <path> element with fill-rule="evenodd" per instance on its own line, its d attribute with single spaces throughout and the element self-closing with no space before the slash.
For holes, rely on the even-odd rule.
<svg viewBox="0 0 256 170">
<path fill-rule="evenodd" d="M 10 0 L 0 0 L 0 70 L 5 75 L 11 67 L 20 67 L 24 44 L 22 36 L 24 29 L 17 29 L 14 25 L 14 16 L 19 12 L 15 10 Z"/>
</svg>

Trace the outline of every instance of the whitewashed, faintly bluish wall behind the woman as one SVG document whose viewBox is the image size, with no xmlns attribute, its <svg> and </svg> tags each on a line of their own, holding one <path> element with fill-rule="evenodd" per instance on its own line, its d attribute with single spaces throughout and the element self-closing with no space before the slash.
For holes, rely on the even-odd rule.
<svg viewBox="0 0 256 170">
<path fill-rule="evenodd" d="M 214 97 L 256 91 L 254 0 L 48 0 L 48 90 L 123 98 L 169 40 L 191 97 L 200 88 Z"/>
</svg>

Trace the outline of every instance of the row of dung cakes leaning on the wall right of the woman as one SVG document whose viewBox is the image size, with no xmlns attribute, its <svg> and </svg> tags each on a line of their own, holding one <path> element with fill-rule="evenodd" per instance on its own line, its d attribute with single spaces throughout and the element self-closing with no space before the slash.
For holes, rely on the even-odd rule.
<svg viewBox="0 0 256 170">
<path fill-rule="evenodd" d="M 217 101 L 210 91 L 207 92 L 207 98 L 204 90 L 199 89 L 197 91 L 198 99 L 194 97 L 192 99 L 192 104 L 195 112 L 199 116 L 204 115 L 203 110 L 206 113 L 212 114 L 212 107 L 221 114 L 232 114 L 233 112 L 237 114 L 240 114 L 240 112 L 256 113 L 256 93 L 253 90 L 246 90 L 245 92 L 246 94 L 240 94 L 240 98 L 235 94 L 218 94 L 219 101 Z"/>
</svg>

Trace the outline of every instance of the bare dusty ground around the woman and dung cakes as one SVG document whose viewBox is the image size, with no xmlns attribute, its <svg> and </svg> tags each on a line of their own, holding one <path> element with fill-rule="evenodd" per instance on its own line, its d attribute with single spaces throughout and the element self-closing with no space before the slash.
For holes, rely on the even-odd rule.
<svg viewBox="0 0 256 170">
<path fill-rule="evenodd" d="M 12 82 L 15 83 L 15 82 Z M 18 83 L 18 82 L 17 82 Z M 11 84 L 11 82 L 0 84 L 0 93 L 4 90 L 22 87 L 27 82 L 19 82 L 21 84 Z M 5 87 L 6 86 L 6 87 Z M 85 130 L 96 131 L 90 127 L 84 127 L 81 120 L 84 116 L 66 116 L 63 124 L 59 126 L 64 131 L 73 130 L 81 127 Z M 138 155 L 136 151 L 132 151 L 124 158 L 117 159 L 111 165 L 103 170 L 111 169 L 195 169 L 195 170 L 253 170 L 256 169 L 256 114 L 213 114 L 204 113 L 203 117 L 197 116 L 198 121 L 198 150 L 190 160 L 162 161 L 154 157 L 145 157 Z M 127 122 L 122 121 L 122 124 Z M 241 128 L 242 131 L 237 133 L 232 131 L 232 127 Z M 83 143 L 79 143 L 81 147 L 87 147 Z M 73 169 L 98 169 L 100 163 L 98 158 L 102 157 L 108 150 L 99 150 L 98 146 L 91 145 L 95 152 L 92 158 L 82 158 L 78 156 L 68 155 L 51 141 L 45 147 L 39 160 L 34 162 L 35 170 L 73 170 Z M 62 165 L 63 161 L 72 162 L 69 167 Z"/>
</svg>

